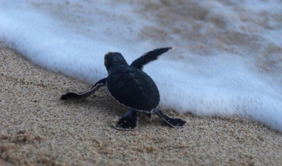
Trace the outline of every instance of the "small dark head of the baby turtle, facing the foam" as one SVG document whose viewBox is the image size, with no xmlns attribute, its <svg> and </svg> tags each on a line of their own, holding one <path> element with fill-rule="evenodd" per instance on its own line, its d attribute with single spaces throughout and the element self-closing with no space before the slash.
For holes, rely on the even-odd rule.
<svg viewBox="0 0 282 166">
<path fill-rule="evenodd" d="M 104 61 L 104 65 L 106 66 L 107 71 L 109 71 L 109 69 L 116 64 L 127 64 L 126 60 L 123 58 L 123 56 L 121 55 L 121 53 L 113 53 L 113 52 L 108 52 L 106 53 L 105 57 L 104 57 L 105 61 Z"/>
</svg>

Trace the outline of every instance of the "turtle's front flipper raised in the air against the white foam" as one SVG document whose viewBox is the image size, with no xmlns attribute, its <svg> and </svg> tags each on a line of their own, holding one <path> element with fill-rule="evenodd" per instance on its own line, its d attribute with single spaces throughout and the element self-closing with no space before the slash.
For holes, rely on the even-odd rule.
<svg viewBox="0 0 282 166">
<path fill-rule="evenodd" d="M 143 54 L 140 58 L 135 59 L 130 64 L 130 66 L 134 66 L 137 69 L 142 70 L 143 66 L 145 64 L 149 63 L 152 60 L 156 60 L 159 55 L 167 52 L 170 49 L 171 49 L 171 47 L 165 47 L 165 48 L 159 48 L 159 49 L 154 49 L 153 51 L 149 51 L 149 52 Z"/>
</svg>

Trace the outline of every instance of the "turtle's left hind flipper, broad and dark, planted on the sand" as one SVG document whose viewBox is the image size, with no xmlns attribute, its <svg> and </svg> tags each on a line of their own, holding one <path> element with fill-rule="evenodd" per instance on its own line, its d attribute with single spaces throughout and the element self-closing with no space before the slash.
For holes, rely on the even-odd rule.
<svg viewBox="0 0 282 166">
<path fill-rule="evenodd" d="M 119 118 L 119 122 L 115 128 L 118 130 L 132 130 L 137 128 L 138 113 L 134 110 L 128 110 L 123 117 Z"/>
</svg>

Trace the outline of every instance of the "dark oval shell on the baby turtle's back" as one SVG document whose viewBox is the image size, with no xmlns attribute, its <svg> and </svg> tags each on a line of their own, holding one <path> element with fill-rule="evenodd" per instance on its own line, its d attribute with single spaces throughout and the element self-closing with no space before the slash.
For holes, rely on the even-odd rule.
<svg viewBox="0 0 282 166">
<path fill-rule="evenodd" d="M 122 65 L 112 68 L 109 73 L 106 85 L 119 103 L 148 112 L 159 105 L 159 90 L 151 77 L 142 70 Z"/>
</svg>

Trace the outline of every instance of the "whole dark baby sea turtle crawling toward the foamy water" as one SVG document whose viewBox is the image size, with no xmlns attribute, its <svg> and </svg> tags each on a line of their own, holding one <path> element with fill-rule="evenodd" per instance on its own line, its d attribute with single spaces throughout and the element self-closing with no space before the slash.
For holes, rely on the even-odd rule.
<svg viewBox="0 0 282 166">
<path fill-rule="evenodd" d="M 110 95 L 129 110 L 119 118 L 115 128 L 118 130 L 135 129 L 140 113 L 145 113 L 151 120 L 151 115 L 156 114 L 172 127 L 182 127 L 186 121 L 171 118 L 159 110 L 159 90 L 155 82 L 142 71 L 143 66 L 167 52 L 171 47 L 159 48 L 143 54 L 128 65 L 121 53 L 109 52 L 105 55 L 105 66 L 109 76 L 99 80 L 88 91 L 82 93 L 67 92 L 61 100 L 71 98 L 79 99 L 95 93 L 102 86 L 106 86 Z"/>
</svg>

